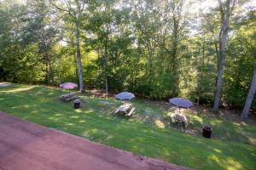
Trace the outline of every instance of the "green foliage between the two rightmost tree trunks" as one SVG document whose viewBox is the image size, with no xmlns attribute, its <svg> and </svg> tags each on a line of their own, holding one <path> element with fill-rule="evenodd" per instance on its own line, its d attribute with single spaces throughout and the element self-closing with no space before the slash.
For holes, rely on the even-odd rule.
<svg viewBox="0 0 256 170">
<path fill-rule="evenodd" d="M 247 24 L 236 30 L 236 36 L 228 47 L 230 57 L 224 77 L 224 99 L 232 106 L 244 105 L 253 77 L 253 65 L 256 63 L 255 12 L 253 14 L 249 15 Z M 255 100 L 253 107 L 256 107 Z"/>
</svg>

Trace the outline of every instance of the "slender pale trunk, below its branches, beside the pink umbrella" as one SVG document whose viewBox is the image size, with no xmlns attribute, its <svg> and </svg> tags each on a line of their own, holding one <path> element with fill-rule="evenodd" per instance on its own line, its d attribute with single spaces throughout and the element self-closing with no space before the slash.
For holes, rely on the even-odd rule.
<svg viewBox="0 0 256 170">
<path fill-rule="evenodd" d="M 84 93 L 84 83 L 83 83 L 83 72 L 82 72 L 82 62 L 81 62 L 81 52 L 80 52 L 80 42 L 79 42 L 79 26 L 76 24 L 76 46 L 77 46 L 77 65 L 79 73 L 79 90 Z"/>
</svg>

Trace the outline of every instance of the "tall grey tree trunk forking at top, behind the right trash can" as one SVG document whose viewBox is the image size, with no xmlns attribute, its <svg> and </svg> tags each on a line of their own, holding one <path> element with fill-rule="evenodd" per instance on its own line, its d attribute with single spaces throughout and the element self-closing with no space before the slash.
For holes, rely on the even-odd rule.
<svg viewBox="0 0 256 170">
<path fill-rule="evenodd" d="M 218 0 L 218 8 L 221 15 L 221 28 L 219 31 L 219 53 L 218 53 L 218 77 L 216 85 L 216 93 L 214 97 L 213 110 L 218 112 L 219 99 L 222 88 L 222 79 L 224 73 L 225 48 L 230 27 L 230 17 L 235 8 L 236 0 Z"/>
</svg>

